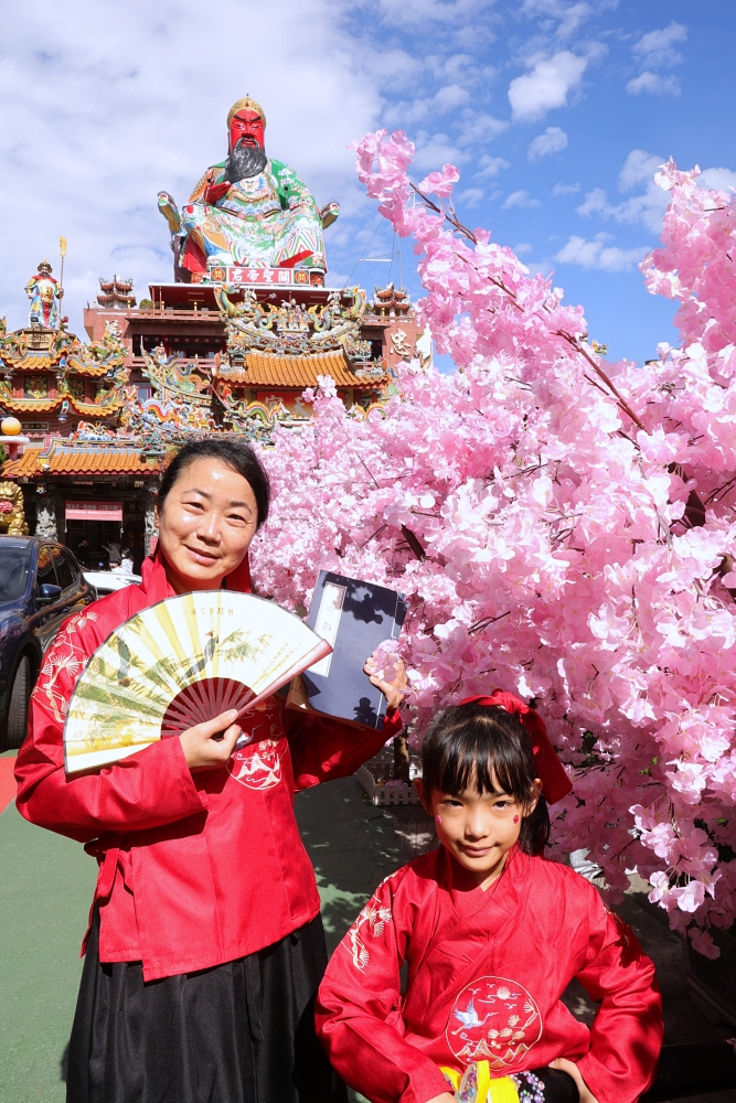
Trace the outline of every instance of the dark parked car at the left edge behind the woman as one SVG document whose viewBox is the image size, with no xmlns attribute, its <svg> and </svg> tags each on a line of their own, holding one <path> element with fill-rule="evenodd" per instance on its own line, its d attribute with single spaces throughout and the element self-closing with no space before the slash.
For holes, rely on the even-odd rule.
<svg viewBox="0 0 736 1103">
<path fill-rule="evenodd" d="M 94 600 L 68 548 L 0 536 L 0 749 L 23 742 L 43 653 L 62 621 Z"/>
</svg>

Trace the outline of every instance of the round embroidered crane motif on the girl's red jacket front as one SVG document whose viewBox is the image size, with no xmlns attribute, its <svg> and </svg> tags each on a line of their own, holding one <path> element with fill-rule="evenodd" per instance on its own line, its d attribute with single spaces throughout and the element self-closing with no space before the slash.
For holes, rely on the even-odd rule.
<svg viewBox="0 0 736 1103">
<path fill-rule="evenodd" d="M 523 985 L 481 976 L 455 1000 L 446 1036 L 459 1061 L 488 1061 L 498 1071 L 518 1064 L 540 1040 L 542 1016 Z"/>
</svg>

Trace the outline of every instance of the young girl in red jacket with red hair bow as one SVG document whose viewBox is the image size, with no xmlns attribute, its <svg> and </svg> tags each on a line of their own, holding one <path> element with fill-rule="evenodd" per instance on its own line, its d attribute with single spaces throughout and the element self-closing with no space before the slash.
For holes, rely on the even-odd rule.
<svg viewBox="0 0 736 1103">
<path fill-rule="evenodd" d="M 417 788 L 441 846 L 358 917 L 320 986 L 318 1036 L 373 1103 L 541 1101 L 545 1078 L 520 1073 L 548 1065 L 582 1103 L 633 1103 L 662 1043 L 654 966 L 591 885 L 541 856 L 543 756 L 522 722 L 538 736 L 538 717 L 481 700 L 433 721 Z M 600 1000 L 590 1029 L 562 1003 L 573 977 Z"/>
</svg>

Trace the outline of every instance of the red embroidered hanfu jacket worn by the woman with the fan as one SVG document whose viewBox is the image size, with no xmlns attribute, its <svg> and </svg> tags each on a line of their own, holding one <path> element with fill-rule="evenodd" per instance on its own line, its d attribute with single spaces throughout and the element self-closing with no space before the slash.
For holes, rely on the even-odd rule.
<svg viewBox="0 0 736 1103">
<path fill-rule="evenodd" d="M 238 575 L 230 588 L 248 589 L 247 568 Z M 255 740 L 226 768 L 192 775 L 179 739 L 162 739 L 67 779 L 64 718 L 86 661 L 129 617 L 172 596 L 159 553 L 140 586 L 66 621 L 33 690 L 15 769 L 21 814 L 97 857 L 100 961 L 142 961 L 146 981 L 233 961 L 314 919 L 294 793 L 353 773 L 402 726 L 394 713 L 364 735 L 271 697 L 243 722 Z"/>
</svg>

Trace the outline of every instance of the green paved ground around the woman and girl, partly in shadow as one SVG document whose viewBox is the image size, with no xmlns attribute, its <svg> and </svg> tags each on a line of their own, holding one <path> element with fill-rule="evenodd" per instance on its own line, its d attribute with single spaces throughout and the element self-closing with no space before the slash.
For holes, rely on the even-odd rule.
<svg viewBox="0 0 736 1103">
<path fill-rule="evenodd" d="M 427 825 L 415 808 L 388 814 L 366 804 L 352 779 L 300 794 L 297 816 L 332 950 L 373 888 L 426 840 Z M 95 863 L 77 844 L 25 823 L 10 805 L 0 815 L 0 1103 L 62 1103 Z M 681 941 L 634 892 L 620 910 L 657 963 L 668 1040 L 725 1037 L 687 999 Z M 584 1018 L 594 1011 L 579 987 L 568 993 L 568 1006 Z M 736 1103 L 736 1091 L 698 1096 L 697 1103 Z"/>
</svg>

